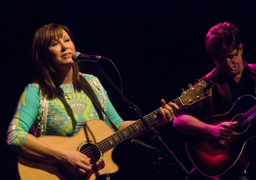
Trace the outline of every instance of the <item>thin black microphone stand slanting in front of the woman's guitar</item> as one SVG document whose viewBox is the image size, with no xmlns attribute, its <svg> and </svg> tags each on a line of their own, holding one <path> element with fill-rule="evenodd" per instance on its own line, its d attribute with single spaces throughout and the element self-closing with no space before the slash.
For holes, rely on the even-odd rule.
<svg viewBox="0 0 256 180">
<path fill-rule="evenodd" d="M 104 72 L 104 69 L 99 66 L 97 67 L 97 69 L 101 74 L 105 76 L 105 78 L 110 82 L 110 84 L 116 89 L 116 91 L 120 94 L 121 98 L 129 104 L 129 106 L 131 107 L 131 110 L 134 112 L 135 115 L 138 116 L 139 119 L 141 119 L 141 121 L 143 122 L 145 127 L 148 129 L 148 131 L 150 131 L 153 134 L 154 139 L 160 144 L 162 149 L 166 151 L 165 155 L 174 161 L 174 165 L 179 167 L 179 170 L 181 170 L 181 172 L 184 173 L 184 175 L 188 176 L 189 171 L 184 167 L 184 165 L 180 161 L 177 160 L 177 158 L 174 156 L 174 153 L 167 147 L 167 145 L 164 143 L 162 138 L 159 136 L 159 133 L 154 131 L 152 127 L 145 121 L 145 119 L 139 113 L 137 108 L 130 101 L 127 100 L 127 98 L 123 95 L 123 93 L 117 88 L 117 86 L 113 83 L 113 81 L 109 78 L 109 76 Z"/>
</svg>

